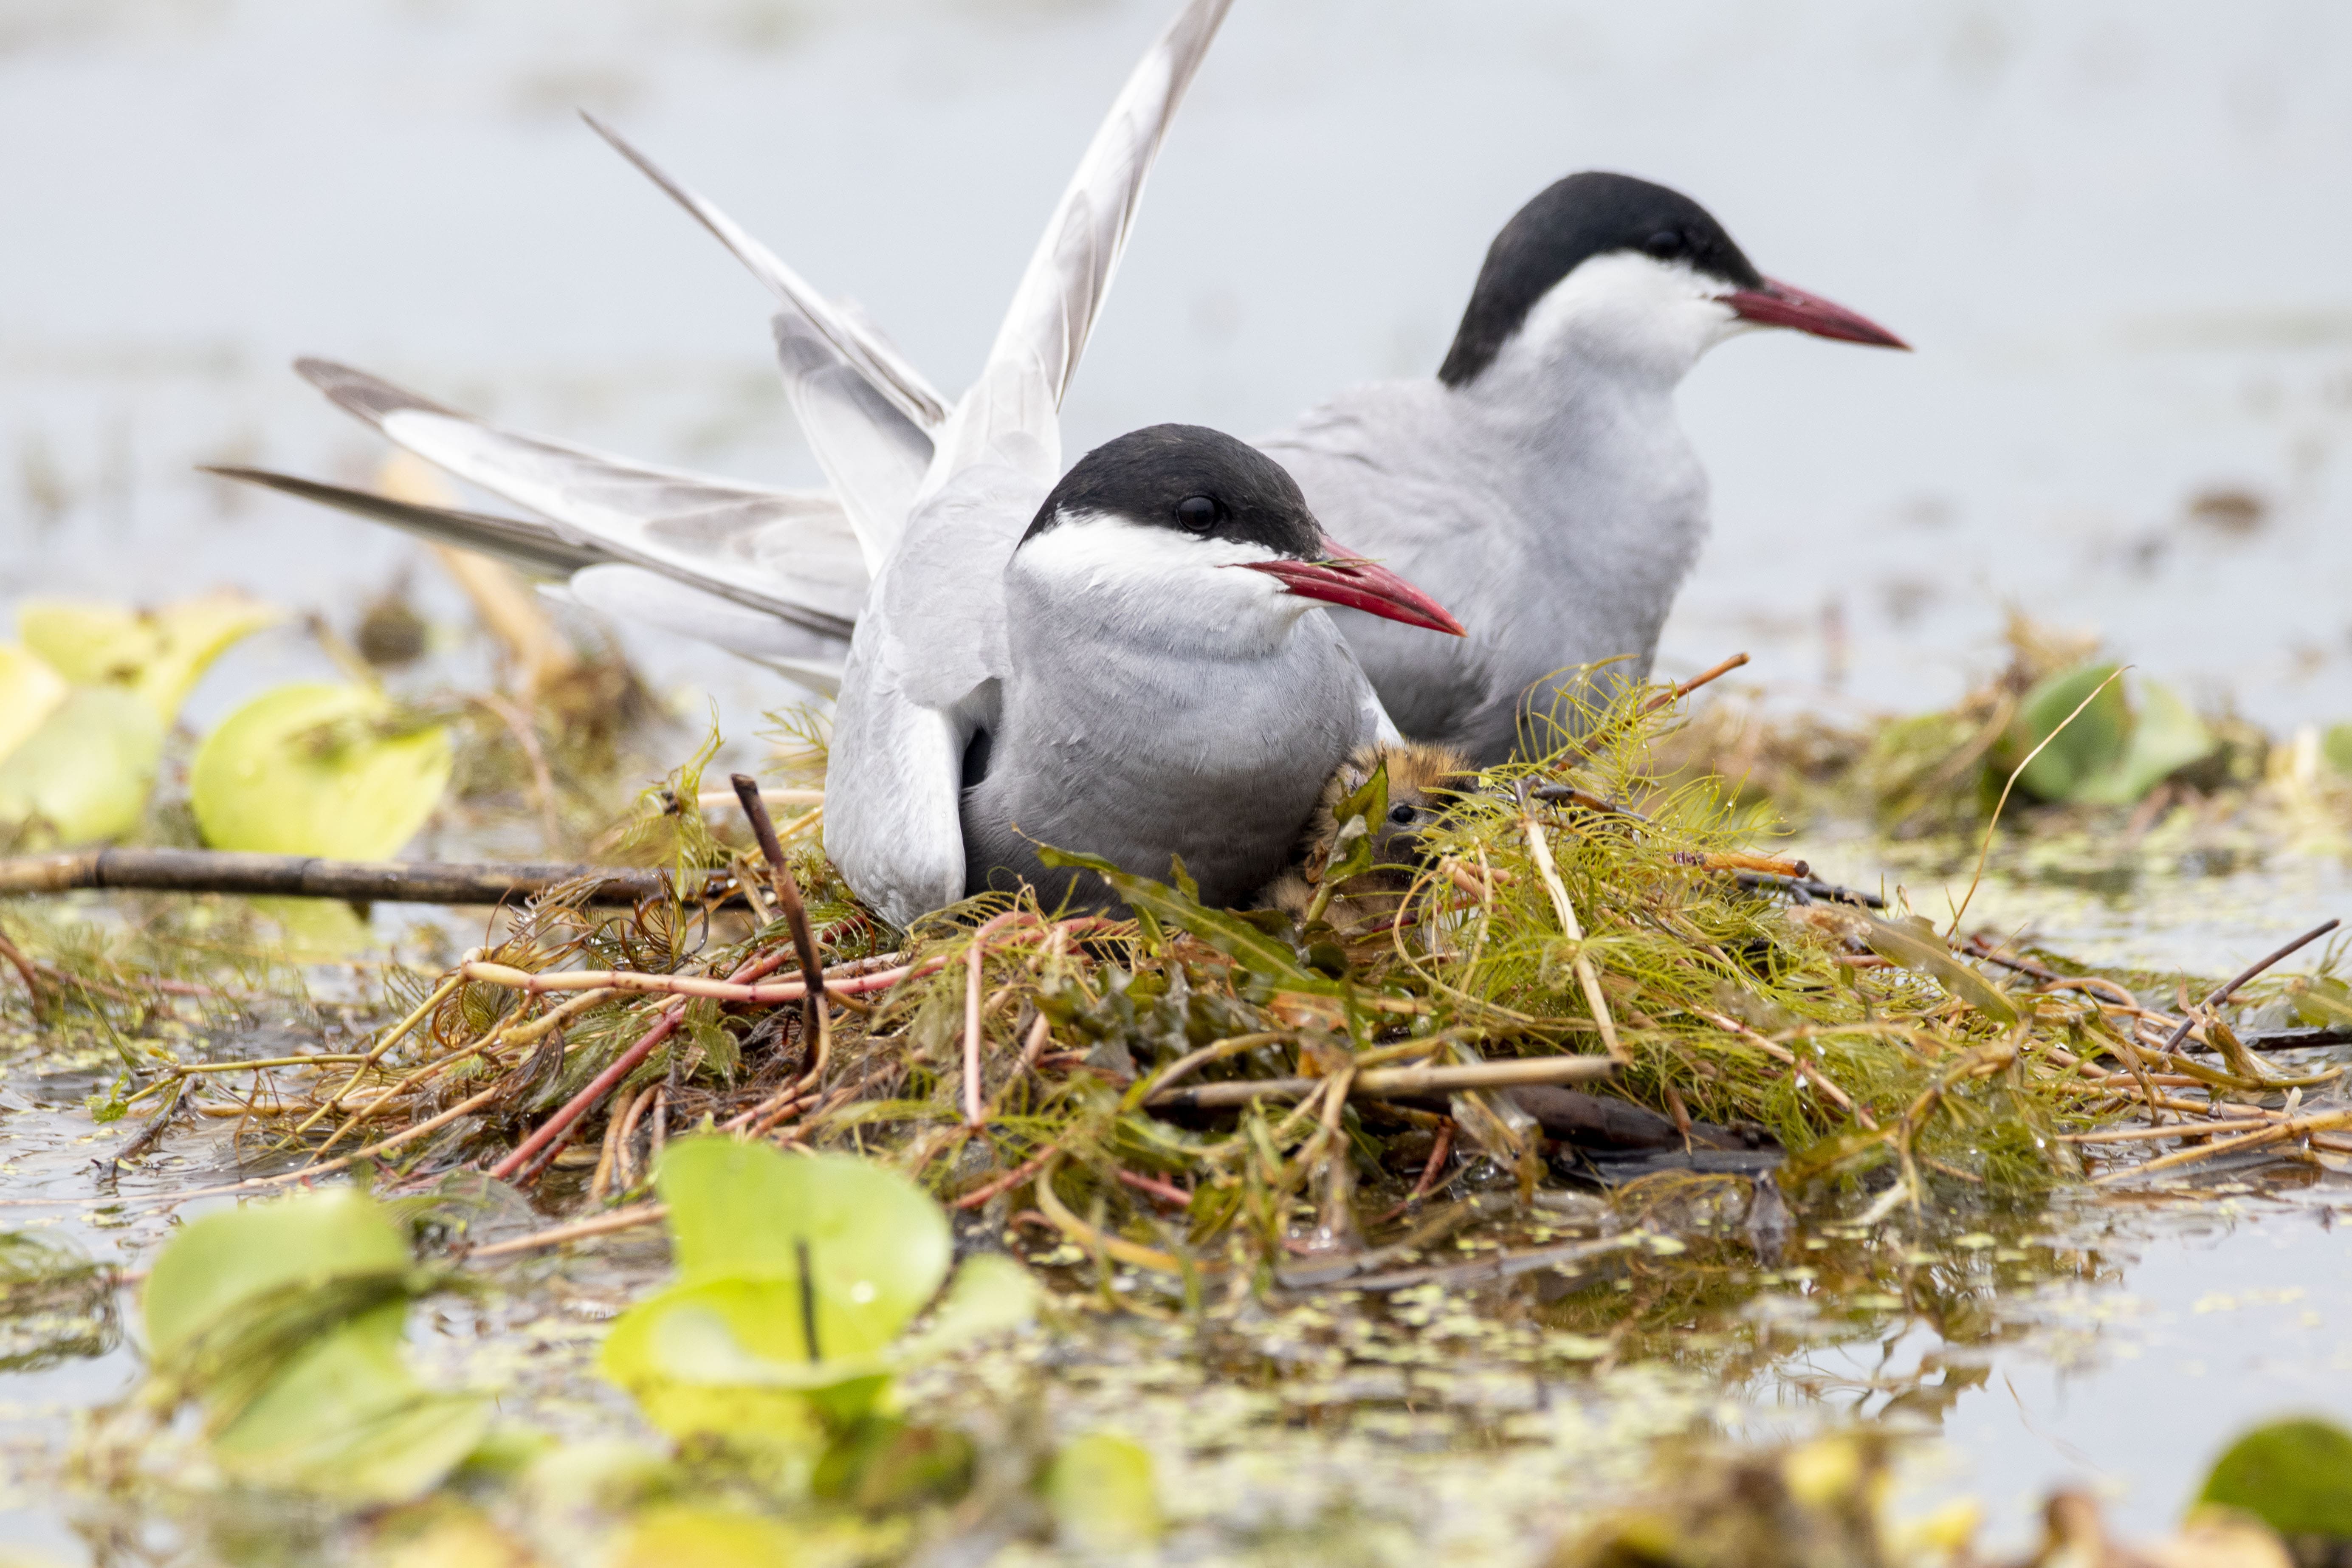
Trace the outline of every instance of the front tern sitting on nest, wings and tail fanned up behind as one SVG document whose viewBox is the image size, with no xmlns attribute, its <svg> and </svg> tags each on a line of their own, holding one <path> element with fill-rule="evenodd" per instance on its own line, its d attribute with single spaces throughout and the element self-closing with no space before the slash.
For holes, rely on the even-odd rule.
<svg viewBox="0 0 2352 1568">
<path fill-rule="evenodd" d="M 1322 607 L 1461 625 L 1324 538 L 1282 465 L 1230 435 L 1152 425 L 1061 473 L 1063 390 L 1228 5 L 1192 0 L 1136 66 L 953 404 L 614 136 L 776 287 L 788 386 L 833 498 L 499 433 L 325 362 L 303 369 L 336 402 L 553 527 L 266 482 L 569 574 L 583 599 L 654 607 L 795 672 L 847 637 L 826 853 L 894 924 L 1023 884 L 1049 905 L 1117 907 L 1044 846 L 1145 877 L 1181 863 L 1204 900 L 1244 903 L 1334 769 L 1395 736 Z M 828 574 L 842 559 L 861 571 Z"/>
</svg>

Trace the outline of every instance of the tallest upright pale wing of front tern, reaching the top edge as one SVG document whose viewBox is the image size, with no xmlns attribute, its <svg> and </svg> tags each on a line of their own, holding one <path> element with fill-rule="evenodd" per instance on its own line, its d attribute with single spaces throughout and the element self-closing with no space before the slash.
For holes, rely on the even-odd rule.
<svg viewBox="0 0 2352 1568">
<path fill-rule="evenodd" d="M 1070 176 L 997 327 L 981 378 L 938 437 L 927 489 L 981 461 L 1061 473 L 1061 397 L 1103 310 L 1176 106 L 1232 0 L 1192 0 L 1127 78 Z"/>
</svg>

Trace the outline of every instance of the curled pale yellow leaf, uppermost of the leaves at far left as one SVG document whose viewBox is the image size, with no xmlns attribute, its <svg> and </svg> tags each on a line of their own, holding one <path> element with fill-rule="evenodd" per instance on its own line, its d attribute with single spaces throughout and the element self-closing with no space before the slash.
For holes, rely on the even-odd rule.
<svg viewBox="0 0 2352 1568">
<path fill-rule="evenodd" d="M 165 726 L 212 661 L 285 614 L 235 592 L 153 611 L 71 599 L 28 599 L 16 635 L 75 686 L 122 686 Z"/>
</svg>

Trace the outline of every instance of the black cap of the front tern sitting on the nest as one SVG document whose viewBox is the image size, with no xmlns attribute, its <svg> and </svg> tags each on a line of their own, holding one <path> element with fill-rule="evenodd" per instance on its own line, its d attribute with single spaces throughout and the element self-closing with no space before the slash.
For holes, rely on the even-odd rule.
<svg viewBox="0 0 2352 1568">
<path fill-rule="evenodd" d="M 1282 463 L 1207 425 L 1145 425 L 1103 442 L 1061 477 L 1023 543 L 1065 515 L 1105 512 L 1192 538 L 1240 538 L 1322 555 L 1322 524 Z"/>
</svg>

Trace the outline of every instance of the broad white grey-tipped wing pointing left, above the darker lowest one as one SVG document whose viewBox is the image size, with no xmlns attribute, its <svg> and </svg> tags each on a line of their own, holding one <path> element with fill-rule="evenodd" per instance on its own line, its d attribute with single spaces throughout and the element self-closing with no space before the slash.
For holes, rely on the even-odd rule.
<svg viewBox="0 0 2352 1568">
<path fill-rule="evenodd" d="M 386 440 L 524 505 L 560 538 L 814 632 L 847 637 L 868 571 L 833 496 L 654 468 L 517 435 L 329 360 L 294 369 Z"/>
</svg>

